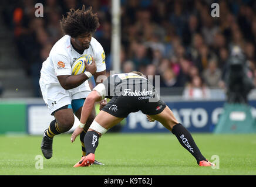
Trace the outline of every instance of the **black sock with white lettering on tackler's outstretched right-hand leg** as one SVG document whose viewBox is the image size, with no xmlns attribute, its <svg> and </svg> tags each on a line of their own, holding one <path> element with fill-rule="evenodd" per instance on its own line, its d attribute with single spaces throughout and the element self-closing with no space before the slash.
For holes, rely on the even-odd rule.
<svg viewBox="0 0 256 187">
<path fill-rule="evenodd" d="M 176 124 L 171 131 L 178 138 L 181 146 L 186 148 L 186 150 L 188 150 L 189 153 L 191 153 L 196 158 L 197 164 L 199 164 L 201 160 L 206 160 L 194 142 L 190 132 L 185 127 L 183 127 L 182 124 Z"/>
</svg>

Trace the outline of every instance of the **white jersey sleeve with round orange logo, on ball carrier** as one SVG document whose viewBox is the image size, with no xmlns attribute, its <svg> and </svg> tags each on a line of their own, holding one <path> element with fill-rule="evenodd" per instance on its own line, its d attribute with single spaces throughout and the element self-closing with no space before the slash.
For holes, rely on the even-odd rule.
<svg viewBox="0 0 256 187">
<path fill-rule="evenodd" d="M 55 53 L 52 54 L 51 58 L 56 76 L 72 74 L 72 67 L 67 56 Z"/>
</svg>

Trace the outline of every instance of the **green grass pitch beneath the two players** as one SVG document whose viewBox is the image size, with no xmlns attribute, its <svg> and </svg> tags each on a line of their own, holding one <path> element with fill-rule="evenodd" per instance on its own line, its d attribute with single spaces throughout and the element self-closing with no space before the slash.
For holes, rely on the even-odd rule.
<svg viewBox="0 0 256 187">
<path fill-rule="evenodd" d="M 43 158 L 41 136 L 0 136 L 0 175 L 256 175 L 256 134 L 192 134 L 201 153 L 220 158 L 220 168 L 198 167 L 173 134 L 105 134 L 99 140 L 96 160 L 105 166 L 73 168 L 80 160 L 80 141 L 70 134 L 53 140 L 53 157 Z"/>
</svg>

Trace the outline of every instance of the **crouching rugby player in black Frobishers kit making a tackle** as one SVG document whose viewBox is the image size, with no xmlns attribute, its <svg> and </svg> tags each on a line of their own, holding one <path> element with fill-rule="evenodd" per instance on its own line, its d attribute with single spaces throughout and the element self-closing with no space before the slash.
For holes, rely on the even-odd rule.
<svg viewBox="0 0 256 187">
<path fill-rule="evenodd" d="M 163 124 L 178 139 L 181 146 L 191 153 L 200 166 L 212 166 L 211 162 L 201 154 L 188 130 L 178 121 L 170 108 L 164 103 L 149 80 L 141 72 L 110 75 L 103 83 L 98 84 L 87 96 L 82 108 L 80 124 L 73 132 L 71 141 L 75 141 L 83 131 L 83 126 L 94 108 L 95 102 L 110 98 L 108 103 L 100 110 L 95 120 L 85 134 L 86 156 L 74 167 L 89 166 L 95 161 L 95 150 L 99 137 L 108 129 L 121 122 L 131 112 L 142 111 L 150 122 L 154 120 Z"/>
</svg>

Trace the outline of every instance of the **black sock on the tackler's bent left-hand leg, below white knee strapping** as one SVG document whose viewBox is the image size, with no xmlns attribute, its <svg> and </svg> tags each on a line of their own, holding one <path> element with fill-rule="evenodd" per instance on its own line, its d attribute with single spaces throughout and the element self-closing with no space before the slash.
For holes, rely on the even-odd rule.
<svg viewBox="0 0 256 187">
<path fill-rule="evenodd" d="M 95 150 L 99 144 L 99 134 L 95 131 L 87 131 L 83 142 L 85 143 L 86 155 L 95 153 Z"/>
</svg>

